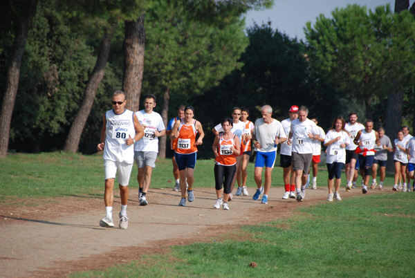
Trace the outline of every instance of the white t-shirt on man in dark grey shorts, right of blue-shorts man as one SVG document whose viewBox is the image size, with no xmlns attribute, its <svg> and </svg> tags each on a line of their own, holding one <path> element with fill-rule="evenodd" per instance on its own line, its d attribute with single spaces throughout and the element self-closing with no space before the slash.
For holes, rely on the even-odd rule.
<svg viewBox="0 0 415 278">
<path fill-rule="evenodd" d="M 313 154 L 313 147 L 309 133 L 319 134 L 317 124 L 310 119 L 300 122 L 299 119 L 291 122 L 291 133 L 293 133 L 293 153 Z M 320 141 L 319 141 L 320 142 Z"/>
</svg>

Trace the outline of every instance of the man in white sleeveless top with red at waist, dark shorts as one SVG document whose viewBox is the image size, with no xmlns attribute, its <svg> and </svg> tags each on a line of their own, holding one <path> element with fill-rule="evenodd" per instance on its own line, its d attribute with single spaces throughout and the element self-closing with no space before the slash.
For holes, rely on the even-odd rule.
<svg viewBox="0 0 415 278">
<path fill-rule="evenodd" d="M 359 155 L 359 169 L 362 178 L 364 178 L 364 184 L 362 193 L 367 193 L 367 184 L 370 179 L 370 169 L 375 158 L 375 145 L 380 146 L 378 131 L 374 131 L 374 122 L 367 120 L 365 122 L 365 129 L 358 132 L 354 138 L 354 143 L 358 145 L 356 148 L 356 154 Z"/>
</svg>

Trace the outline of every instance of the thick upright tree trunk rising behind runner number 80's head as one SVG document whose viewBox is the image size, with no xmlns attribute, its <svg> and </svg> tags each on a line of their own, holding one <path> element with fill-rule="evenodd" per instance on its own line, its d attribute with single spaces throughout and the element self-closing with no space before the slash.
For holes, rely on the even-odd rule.
<svg viewBox="0 0 415 278">
<path fill-rule="evenodd" d="M 136 21 L 125 21 L 124 76 L 122 91 L 127 95 L 126 108 L 136 112 L 140 106 L 144 71 L 145 28 L 142 14 Z"/>
</svg>

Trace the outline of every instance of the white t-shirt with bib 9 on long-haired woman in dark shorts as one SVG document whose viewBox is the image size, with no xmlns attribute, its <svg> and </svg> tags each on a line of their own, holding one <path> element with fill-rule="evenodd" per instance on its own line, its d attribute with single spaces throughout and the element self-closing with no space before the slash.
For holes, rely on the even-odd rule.
<svg viewBox="0 0 415 278">
<path fill-rule="evenodd" d="M 327 147 L 326 163 L 346 163 L 346 149 L 340 147 L 341 144 L 350 144 L 349 134 L 346 131 L 337 132 L 335 129 L 329 130 L 324 139 L 324 144 L 340 136 L 340 140 L 333 142 Z"/>
</svg>

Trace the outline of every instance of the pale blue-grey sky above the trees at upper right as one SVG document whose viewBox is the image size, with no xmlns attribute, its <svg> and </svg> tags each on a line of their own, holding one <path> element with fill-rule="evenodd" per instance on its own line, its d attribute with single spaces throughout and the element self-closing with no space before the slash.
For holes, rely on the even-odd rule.
<svg viewBox="0 0 415 278">
<path fill-rule="evenodd" d="M 411 0 L 412 3 L 414 0 Z M 335 8 L 345 8 L 348 4 L 358 3 L 374 10 L 377 6 L 389 3 L 391 10 L 394 10 L 394 0 L 275 0 L 271 10 L 261 12 L 252 11 L 246 14 L 246 26 L 252 26 L 253 21 L 261 25 L 271 21 L 271 27 L 285 33 L 288 37 L 304 40 L 303 27 L 307 21 L 315 24 L 315 18 L 320 14 L 331 17 Z"/>
</svg>

